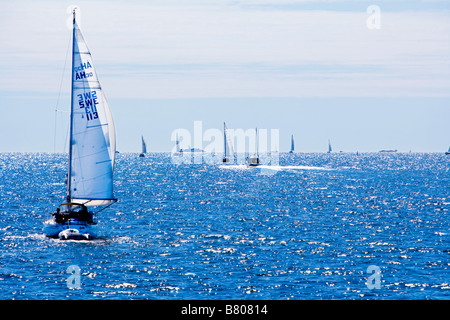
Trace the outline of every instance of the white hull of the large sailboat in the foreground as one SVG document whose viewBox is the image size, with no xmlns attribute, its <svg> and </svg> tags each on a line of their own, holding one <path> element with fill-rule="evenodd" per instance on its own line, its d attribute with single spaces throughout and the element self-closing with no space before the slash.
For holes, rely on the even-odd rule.
<svg viewBox="0 0 450 320">
<path fill-rule="evenodd" d="M 81 221 L 57 223 L 50 219 L 44 222 L 44 234 L 61 240 L 92 240 L 97 237 L 97 228 Z"/>
</svg>

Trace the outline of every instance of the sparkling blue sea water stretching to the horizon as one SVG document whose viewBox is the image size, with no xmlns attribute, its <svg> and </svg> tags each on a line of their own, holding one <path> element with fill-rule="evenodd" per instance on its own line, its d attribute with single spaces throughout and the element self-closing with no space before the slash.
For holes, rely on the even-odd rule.
<svg viewBox="0 0 450 320">
<path fill-rule="evenodd" d="M 94 241 L 43 236 L 66 167 L 0 154 L 0 299 L 450 297 L 443 154 L 281 154 L 273 172 L 118 154 Z"/>
</svg>

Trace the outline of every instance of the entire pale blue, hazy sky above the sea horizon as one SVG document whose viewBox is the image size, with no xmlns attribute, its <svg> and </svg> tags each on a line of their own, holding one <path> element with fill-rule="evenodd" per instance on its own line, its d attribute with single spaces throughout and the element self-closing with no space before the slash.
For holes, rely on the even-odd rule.
<svg viewBox="0 0 450 320">
<path fill-rule="evenodd" d="M 0 152 L 54 150 L 68 110 L 66 1 L 0 4 Z M 450 1 L 78 1 L 118 150 L 173 130 L 280 130 L 287 151 L 450 146 Z M 381 29 L 366 26 L 369 5 Z M 70 55 L 67 58 L 70 62 Z M 56 151 L 66 145 L 58 113 Z M 67 149 L 67 148 L 66 148 Z"/>
</svg>

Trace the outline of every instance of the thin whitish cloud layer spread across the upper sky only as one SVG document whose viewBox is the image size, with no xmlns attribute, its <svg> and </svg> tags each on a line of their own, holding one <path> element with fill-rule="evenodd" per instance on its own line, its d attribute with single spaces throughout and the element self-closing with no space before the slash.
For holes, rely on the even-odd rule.
<svg viewBox="0 0 450 320">
<path fill-rule="evenodd" d="M 324 2 L 330 1 L 317 3 Z M 110 97 L 449 94 L 448 12 L 382 11 L 381 29 L 369 30 L 365 8 L 242 9 L 252 3 L 86 2 L 80 7 L 85 38 Z M 66 7 L 56 4 L 3 7 L 3 17 L 8 16 L 0 22 L 3 90 L 59 89 L 70 31 Z"/>
</svg>

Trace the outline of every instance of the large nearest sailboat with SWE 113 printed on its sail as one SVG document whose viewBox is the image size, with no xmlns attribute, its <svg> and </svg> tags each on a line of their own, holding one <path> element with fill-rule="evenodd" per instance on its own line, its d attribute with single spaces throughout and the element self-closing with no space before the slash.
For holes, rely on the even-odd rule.
<svg viewBox="0 0 450 320">
<path fill-rule="evenodd" d="M 73 10 L 72 94 L 66 201 L 44 222 L 44 233 L 60 239 L 96 237 L 94 213 L 113 195 L 116 152 L 114 122 Z"/>
</svg>

